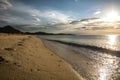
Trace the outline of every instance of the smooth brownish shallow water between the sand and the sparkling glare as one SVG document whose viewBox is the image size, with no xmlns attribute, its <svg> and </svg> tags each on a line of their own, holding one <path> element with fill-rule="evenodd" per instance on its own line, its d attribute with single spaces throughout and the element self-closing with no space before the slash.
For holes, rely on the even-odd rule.
<svg viewBox="0 0 120 80">
<path fill-rule="evenodd" d="M 77 74 L 82 76 L 83 80 L 92 80 L 93 77 L 91 76 L 96 76 L 96 73 L 94 73 L 94 70 L 96 69 L 94 69 L 94 67 L 92 66 L 93 62 L 91 60 L 89 61 L 86 56 L 78 54 L 78 52 L 74 52 L 74 50 L 77 48 L 47 40 L 45 40 L 45 43 L 51 51 L 55 52 L 59 57 L 67 61 L 77 72 Z M 94 80 L 96 80 L 96 78 Z"/>
</svg>

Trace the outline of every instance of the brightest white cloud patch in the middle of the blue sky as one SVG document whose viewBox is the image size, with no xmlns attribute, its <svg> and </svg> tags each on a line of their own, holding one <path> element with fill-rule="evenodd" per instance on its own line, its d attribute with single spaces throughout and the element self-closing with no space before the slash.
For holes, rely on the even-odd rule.
<svg viewBox="0 0 120 80">
<path fill-rule="evenodd" d="M 30 13 L 31 13 L 31 16 L 33 17 L 44 18 L 47 21 L 51 21 L 51 22 L 68 22 L 69 20 L 69 16 L 57 10 L 40 11 L 40 10 L 34 9 Z"/>
</svg>

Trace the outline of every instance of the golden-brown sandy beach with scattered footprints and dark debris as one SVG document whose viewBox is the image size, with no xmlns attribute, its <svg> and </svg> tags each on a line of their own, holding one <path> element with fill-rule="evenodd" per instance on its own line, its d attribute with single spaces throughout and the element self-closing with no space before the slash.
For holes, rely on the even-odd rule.
<svg viewBox="0 0 120 80">
<path fill-rule="evenodd" d="M 71 65 L 31 35 L 0 34 L 0 80 L 82 80 Z"/>
</svg>

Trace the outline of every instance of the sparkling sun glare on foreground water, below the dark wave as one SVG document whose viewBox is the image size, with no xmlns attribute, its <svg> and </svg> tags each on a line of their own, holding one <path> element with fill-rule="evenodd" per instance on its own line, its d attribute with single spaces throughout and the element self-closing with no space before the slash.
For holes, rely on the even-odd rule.
<svg viewBox="0 0 120 80">
<path fill-rule="evenodd" d="M 99 79 L 98 80 L 110 80 L 111 75 L 117 68 L 116 58 L 110 55 L 104 55 L 107 58 L 102 59 L 103 64 L 99 67 Z"/>
</svg>

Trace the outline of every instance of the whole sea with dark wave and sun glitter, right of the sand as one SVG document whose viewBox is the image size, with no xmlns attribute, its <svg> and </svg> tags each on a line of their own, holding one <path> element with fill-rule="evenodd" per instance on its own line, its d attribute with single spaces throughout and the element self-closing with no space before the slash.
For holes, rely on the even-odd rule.
<svg viewBox="0 0 120 80">
<path fill-rule="evenodd" d="M 120 80 L 120 35 L 39 35 L 84 80 Z M 66 74 L 67 75 L 67 74 Z"/>
</svg>

